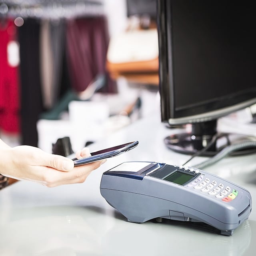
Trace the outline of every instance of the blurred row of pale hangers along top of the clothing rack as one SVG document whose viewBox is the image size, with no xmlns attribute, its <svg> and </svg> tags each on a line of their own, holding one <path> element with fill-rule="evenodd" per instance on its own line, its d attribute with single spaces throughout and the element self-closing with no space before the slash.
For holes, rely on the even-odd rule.
<svg viewBox="0 0 256 256">
<path fill-rule="evenodd" d="M 0 3 L 0 16 L 59 19 L 104 15 L 101 1 L 96 0 L 6 0 Z"/>
</svg>

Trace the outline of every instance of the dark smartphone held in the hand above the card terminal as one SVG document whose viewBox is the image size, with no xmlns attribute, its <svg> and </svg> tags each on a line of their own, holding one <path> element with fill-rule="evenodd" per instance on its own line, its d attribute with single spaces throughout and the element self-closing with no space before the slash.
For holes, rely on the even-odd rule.
<svg viewBox="0 0 256 256">
<path fill-rule="evenodd" d="M 105 148 L 99 151 L 95 151 L 91 153 L 91 156 L 77 159 L 74 158 L 74 166 L 80 166 L 82 164 L 88 164 L 90 162 L 95 162 L 98 160 L 102 160 L 104 158 L 109 158 L 113 156 L 117 156 L 119 154 L 122 154 L 124 152 L 127 152 L 128 150 L 131 150 L 132 148 L 135 148 L 138 145 L 138 141 L 125 143 L 122 145 L 114 146 L 111 148 Z"/>
</svg>

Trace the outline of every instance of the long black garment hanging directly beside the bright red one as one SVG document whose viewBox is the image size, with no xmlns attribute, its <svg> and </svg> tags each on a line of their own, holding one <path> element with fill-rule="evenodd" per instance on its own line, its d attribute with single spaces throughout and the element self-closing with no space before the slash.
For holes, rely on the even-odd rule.
<svg viewBox="0 0 256 256">
<path fill-rule="evenodd" d="M 43 110 L 39 64 L 40 20 L 27 18 L 18 29 L 20 43 L 20 95 L 22 144 L 37 146 L 36 123 Z"/>
</svg>

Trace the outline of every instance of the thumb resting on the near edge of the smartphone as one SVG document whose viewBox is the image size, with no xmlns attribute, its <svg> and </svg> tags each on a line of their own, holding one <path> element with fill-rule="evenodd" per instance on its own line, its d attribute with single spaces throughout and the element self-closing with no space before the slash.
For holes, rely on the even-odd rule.
<svg viewBox="0 0 256 256">
<path fill-rule="evenodd" d="M 74 161 L 64 156 L 49 154 L 47 162 L 47 166 L 60 171 L 69 172 L 74 168 Z"/>
</svg>

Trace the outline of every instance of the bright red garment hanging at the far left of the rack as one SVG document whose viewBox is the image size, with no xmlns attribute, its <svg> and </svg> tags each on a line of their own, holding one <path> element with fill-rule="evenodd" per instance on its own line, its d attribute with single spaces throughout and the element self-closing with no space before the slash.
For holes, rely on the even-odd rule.
<svg viewBox="0 0 256 256">
<path fill-rule="evenodd" d="M 13 20 L 0 20 L 0 129 L 20 132 L 19 69 L 8 63 L 7 47 L 17 39 Z"/>
</svg>

